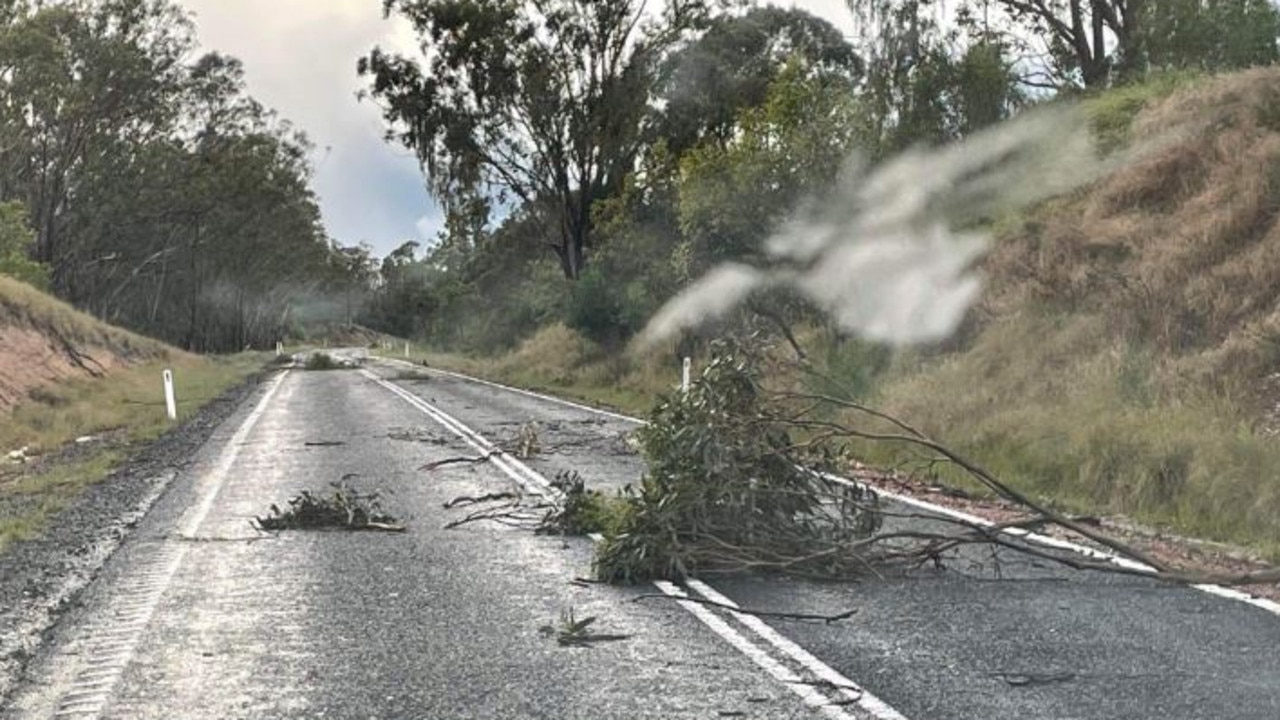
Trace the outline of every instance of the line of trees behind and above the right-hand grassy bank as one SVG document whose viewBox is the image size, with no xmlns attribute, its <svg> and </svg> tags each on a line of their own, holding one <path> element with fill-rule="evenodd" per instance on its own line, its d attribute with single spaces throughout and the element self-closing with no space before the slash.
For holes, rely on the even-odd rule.
<svg viewBox="0 0 1280 720">
<path fill-rule="evenodd" d="M 625 341 L 690 278 L 759 258 L 851 154 L 874 164 L 1152 74 L 1271 64 L 1280 36 L 1262 0 L 849 6 L 852 37 L 751 3 L 387 0 L 421 51 L 374 49 L 358 72 L 447 220 L 429 250 L 383 260 L 364 320 L 480 351 L 556 322 Z"/>
</svg>

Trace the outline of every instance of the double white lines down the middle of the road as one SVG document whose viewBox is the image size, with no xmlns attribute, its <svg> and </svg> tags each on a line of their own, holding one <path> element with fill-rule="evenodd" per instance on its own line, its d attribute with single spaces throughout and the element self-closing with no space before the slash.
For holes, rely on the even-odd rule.
<svg viewBox="0 0 1280 720">
<path fill-rule="evenodd" d="M 375 373 L 371 373 L 369 370 L 361 370 L 361 373 L 366 378 L 369 378 L 369 379 L 374 380 L 375 383 L 378 383 L 380 387 L 390 391 L 397 397 L 404 400 L 406 402 L 408 402 L 411 406 L 413 406 L 419 411 L 421 411 L 425 415 L 430 416 L 436 423 L 444 425 L 447 429 L 449 429 L 456 436 L 458 436 L 460 438 L 462 438 L 465 442 L 467 442 L 468 445 L 471 445 L 471 447 L 474 447 L 476 450 L 480 450 L 481 452 L 485 451 L 485 446 L 493 447 L 493 445 L 489 443 L 483 436 L 480 436 L 479 433 L 476 433 L 471 428 L 467 428 L 465 424 L 462 424 L 462 421 L 460 421 L 456 418 L 451 416 L 448 413 L 440 410 L 439 407 L 435 407 L 430 402 L 426 402 L 421 397 L 417 397 L 416 395 L 413 395 L 413 393 L 411 393 L 411 392 L 408 392 L 408 391 L 406 391 L 406 389 L 396 386 L 394 383 L 378 377 Z M 472 436 L 475 439 L 472 439 L 472 437 L 467 437 L 468 434 Z M 484 445 L 480 445 L 480 443 L 484 443 Z M 547 482 L 547 479 L 543 478 L 543 475 L 540 473 L 538 473 L 532 468 L 525 465 L 520 460 L 517 460 L 515 457 L 500 457 L 500 456 L 494 456 L 493 459 L 490 459 L 490 461 L 497 461 L 497 460 L 503 460 L 506 462 L 509 462 L 513 468 L 517 468 L 518 470 L 522 471 L 522 473 L 516 473 L 516 471 L 513 471 L 511 469 L 507 469 L 503 464 L 498 462 L 499 469 L 502 469 L 503 473 L 506 473 L 508 477 L 511 477 L 512 479 L 515 479 L 516 482 L 518 482 L 521 486 L 526 486 L 526 480 L 524 480 L 521 478 L 521 474 L 527 474 L 531 478 L 540 478 L 541 483 L 545 483 L 547 488 L 550 489 L 552 492 L 554 492 L 550 488 L 550 483 Z M 600 539 L 603 539 L 603 537 L 599 533 L 593 533 L 590 536 L 590 538 L 593 541 L 595 541 L 595 542 L 600 542 Z M 716 592 L 716 591 L 712 591 L 709 585 L 705 585 L 705 583 L 701 583 L 701 584 L 707 588 L 707 591 Z M 686 598 L 687 597 L 684 593 L 684 591 L 681 591 L 680 588 L 677 588 L 673 584 L 667 583 L 664 580 L 657 580 L 654 583 L 654 585 L 657 585 L 658 589 L 660 589 L 663 593 L 666 593 L 666 594 L 668 594 L 671 597 L 676 597 L 676 598 Z M 699 591 L 699 592 L 701 592 L 701 591 Z M 723 597 L 723 596 L 719 596 L 719 597 Z M 705 624 L 708 628 L 712 629 L 712 632 L 714 632 L 716 634 L 718 634 L 721 638 L 723 638 L 726 642 L 728 642 L 733 648 L 736 648 L 739 652 L 741 652 L 742 655 L 745 655 L 749 660 L 751 660 L 753 662 L 755 662 L 759 667 L 762 667 L 763 670 L 765 670 L 774 679 L 777 679 L 778 682 L 781 682 L 782 684 L 785 684 L 787 688 L 790 688 L 794 693 L 796 693 L 797 696 L 800 696 L 800 698 L 805 702 L 805 705 L 808 705 L 810 707 L 814 707 L 817 710 L 820 710 L 823 714 L 828 715 L 829 717 L 832 717 L 835 720 L 855 720 L 855 717 L 852 715 L 845 712 L 845 710 L 841 706 L 833 705 L 832 700 L 828 698 L 828 697 L 826 697 L 826 696 L 823 696 L 822 693 L 819 693 L 817 691 L 817 688 L 814 688 L 810 684 L 806 684 L 806 683 L 801 682 L 800 678 L 795 675 L 795 673 L 792 673 L 786 666 L 781 665 L 777 660 L 774 660 L 773 657 L 771 657 L 768 655 L 768 652 L 765 652 L 764 650 L 762 650 L 758 644 L 755 644 L 751 641 L 749 641 L 745 637 L 742 637 L 741 633 L 739 633 L 737 630 L 735 630 L 733 628 L 731 628 L 727 623 L 724 623 L 724 620 L 722 620 L 721 618 L 718 618 L 716 614 L 710 612 L 707 607 L 704 607 L 704 606 L 701 606 L 701 605 L 699 605 L 696 602 L 690 602 L 687 600 L 680 601 L 680 606 L 684 607 L 685 610 L 687 610 L 689 612 L 694 614 L 694 616 L 696 616 L 699 620 L 701 620 L 703 624 Z M 739 612 L 735 612 L 733 616 L 739 618 L 739 619 L 741 619 L 741 618 L 749 618 L 749 616 L 745 616 L 745 615 L 739 614 Z M 824 665 L 820 660 L 818 660 L 813 655 L 809 655 L 808 652 L 805 652 L 803 648 L 800 648 L 799 646 L 796 646 L 791 641 L 787 641 L 786 638 L 783 638 L 782 635 L 780 635 L 772 628 L 768 628 L 768 633 L 772 634 L 772 638 L 760 634 L 759 630 L 756 630 L 755 628 L 751 628 L 749 624 L 748 624 L 748 628 L 750 628 L 753 632 L 755 632 L 758 635 L 760 635 L 762 639 L 764 639 L 769 644 L 773 644 L 783 655 L 787 655 L 787 656 L 790 656 L 792 659 L 796 659 L 800 653 L 803 653 L 806 657 L 806 660 L 805 661 L 797 660 L 797 662 L 800 662 L 801 665 L 804 665 L 808 670 L 813 671 L 819 679 L 823 679 L 823 680 L 827 680 L 827 682 L 832 682 L 831 678 L 840 678 L 840 680 L 835 682 L 835 684 L 837 684 L 837 685 L 842 684 L 842 685 L 846 685 L 846 687 L 859 687 L 855 683 L 852 683 L 851 680 L 849 680 L 847 678 L 845 678 L 844 675 L 841 675 L 836 669 Z M 782 644 L 778 644 L 777 641 L 782 641 L 783 643 L 790 644 L 794 650 L 788 651 L 787 647 L 785 647 Z M 845 694 L 845 697 L 849 697 L 850 700 L 852 700 L 854 696 Z M 863 706 L 864 708 L 868 708 L 868 705 L 869 705 L 870 707 L 882 707 L 886 711 L 886 712 L 882 712 L 882 714 L 876 714 L 876 717 L 878 720 L 906 720 L 902 715 L 900 715 L 896 711 L 893 711 L 892 708 L 890 708 L 882 701 L 874 698 L 874 696 L 870 696 L 869 693 L 867 693 L 865 697 L 869 698 L 870 702 L 864 705 L 863 701 L 859 701 L 860 706 Z"/>
</svg>

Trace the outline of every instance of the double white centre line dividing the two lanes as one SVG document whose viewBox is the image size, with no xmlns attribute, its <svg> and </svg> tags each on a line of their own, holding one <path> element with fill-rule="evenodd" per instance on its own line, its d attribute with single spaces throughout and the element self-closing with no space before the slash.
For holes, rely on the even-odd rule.
<svg viewBox="0 0 1280 720">
<path fill-rule="evenodd" d="M 445 427 L 448 430 L 451 430 L 452 433 L 466 441 L 468 445 L 471 445 L 471 447 L 481 452 L 489 450 L 495 450 L 498 452 L 502 452 L 492 442 L 480 436 L 480 433 L 468 428 L 461 420 L 453 418 L 448 413 L 440 410 L 439 407 L 431 405 L 430 402 L 422 400 L 421 397 L 401 388 L 399 386 L 389 380 L 380 378 L 375 373 L 371 373 L 369 370 L 361 370 L 361 373 L 366 378 L 374 380 L 383 388 L 394 393 L 397 397 L 404 400 L 419 411 L 426 414 L 440 425 Z M 521 462 L 515 457 L 493 455 L 490 457 L 490 462 L 498 464 L 499 469 L 502 469 L 504 474 L 507 474 L 509 478 L 521 484 L 521 487 L 527 488 L 527 482 L 524 478 L 530 478 L 530 479 L 536 479 L 539 486 L 545 487 L 544 495 L 558 493 L 558 491 L 556 491 L 550 486 L 550 482 L 548 482 L 547 478 L 544 478 L 538 470 L 534 470 L 532 468 L 530 468 L 529 465 Z M 595 539 L 596 542 L 599 541 L 598 537 L 593 537 L 593 539 Z M 664 594 L 668 594 L 671 597 L 687 598 L 684 591 L 680 591 L 680 588 L 668 582 L 657 580 L 654 585 L 657 585 L 658 589 L 662 591 Z M 710 585 L 705 583 L 699 583 L 699 588 L 701 589 L 698 589 L 698 592 L 700 594 L 704 594 L 704 597 L 707 597 L 705 593 L 709 592 L 714 593 L 719 598 L 723 598 L 723 601 L 714 601 L 714 602 L 724 602 L 724 603 L 731 602 L 728 601 L 728 598 L 726 598 L 723 594 L 719 594 Z M 712 598 L 708 597 L 708 600 Z M 704 625 L 707 625 L 712 632 L 714 632 L 722 639 L 728 642 L 730 646 L 732 646 L 735 650 L 745 655 L 749 660 L 755 662 L 759 667 L 764 669 L 774 679 L 783 683 L 787 688 L 790 688 L 792 692 L 800 696 L 800 698 L 804 700 L 806 705 L 822 711 L 824 715 L 832 717 L 833 720 L 855 720 L 852 715 L 850 715 L 844 710 L 842 706 L 845 703 L 856 703 L 859 707 L 873 715 L 877 720 L 906 720 L 901 714 L 891 708 L 883 701 L 876 698 L 873 694 L 861 689 L 860 685 L 858 685 L 849 678 L 845 678 L 835 667 L 823 664 L 820 660 L 818 660 L 809 652 L 800 648 L 800 646 L 795 644 L 792 641 L 783 637 L 781 633 L 774 630 L 772 626 L 765 624 L 759 618 L 753 618 L 742 612 L 731 612 L 731 615 L 739 619 L 740 621 L 744 618 L 750 618 L 751 620 L 755 620 L 755 623 L 750 624 L 744 623 L 744 625 L 753 633 L 755 633 L 758 637 L 760 637 L 760 639 L 773 646 L 776 651 L 778 651 L 786 657 L 792 659 L 794 661 L 804 666 L 806 670 L 813 673 L 819 680 L 831 683 L 833 688 L 838 689 L 841 694 L 840 701 L 833 701 L 832 698 L 828 698 L 822 693 L 819 693 L 813 684 L 801 680 L 795 673 L 792 673 L 786 666 L 774 660 L 772 656 L 769 656 L 768 651 L 762 648 L 755 642 L 745 638 L 741 633 L 739 633 L 727 623 L 724 623 L 724 620 L 722 620 L 719 616 L 710 612 L 705 606 L 696 602 L 691 602 L 689 600 L 680 601 L 678 605 L 682 609 L 691 612 L 695 618 L 701 620 Z M 762 629 L 764 630 L 764 633 L 762 633 Z"/>
</svg>

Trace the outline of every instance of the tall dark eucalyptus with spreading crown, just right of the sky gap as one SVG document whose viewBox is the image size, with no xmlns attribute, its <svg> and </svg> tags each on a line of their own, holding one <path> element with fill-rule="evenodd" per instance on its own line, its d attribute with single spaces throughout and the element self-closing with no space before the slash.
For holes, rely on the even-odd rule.
<svg viewBox="0 0 1280 720">
<path fill-rule="evenodd" d="M 384 0 L 420 58 L 360 59 L 389 140 L 413 150 L 447 213 L 480 202 L 536 214 L 566 278 L 591 245 L 591 208 L 643 143 L 663 54 L 708 18 L 703 0 Z"/>
</svg>

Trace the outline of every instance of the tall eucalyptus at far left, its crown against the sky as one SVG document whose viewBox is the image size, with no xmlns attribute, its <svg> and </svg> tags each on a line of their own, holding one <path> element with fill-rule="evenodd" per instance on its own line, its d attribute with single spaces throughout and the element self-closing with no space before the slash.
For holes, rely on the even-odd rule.
<svg viewBox="0 0 1280 720">
<path fill-rule="evenodd" d="M 68 290 L 83 258 L 67 237 L 99 160 L 163 136 L 193 46 L 166 0 L 68 0 L 13 10 L 0 27 L 0 197 L 20 199 L 35 260 Z"/>
</svg>

